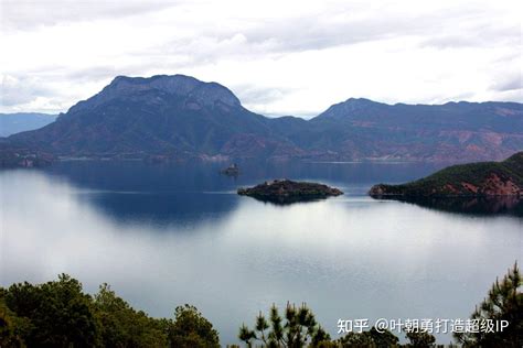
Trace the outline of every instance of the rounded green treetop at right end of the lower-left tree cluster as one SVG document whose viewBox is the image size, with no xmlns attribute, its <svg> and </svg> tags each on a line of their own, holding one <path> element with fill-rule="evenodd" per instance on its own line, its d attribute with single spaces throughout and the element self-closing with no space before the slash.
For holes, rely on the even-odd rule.
<svg viewBox="0 0 523 348">
<path fill-rule="evenodd" d="M 194 306 L 178 306 L 168 328 L 169 344 L 177 348 L 220 348 L 218 333 Z"/>
</svg>

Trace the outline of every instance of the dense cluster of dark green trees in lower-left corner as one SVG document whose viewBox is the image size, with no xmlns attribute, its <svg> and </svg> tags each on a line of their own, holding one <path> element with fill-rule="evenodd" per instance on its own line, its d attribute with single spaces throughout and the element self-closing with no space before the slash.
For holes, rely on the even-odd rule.
<svg viewBox="0 0 523 348">
<path fill-rule="evenodd" d="M 41 285 L 0 289 L 0 347 L 220 347 L 218 334 L 195 307 L 174 320 L 149 317 L 103 284 L 94 296 L 62 274 Z"/>
</svg>

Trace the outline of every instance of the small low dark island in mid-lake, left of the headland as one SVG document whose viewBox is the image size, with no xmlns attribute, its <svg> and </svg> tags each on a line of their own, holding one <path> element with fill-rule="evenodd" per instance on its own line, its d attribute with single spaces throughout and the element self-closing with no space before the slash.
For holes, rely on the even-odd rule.
<svg viewBox="0 0 523 348">
<path fill-rule="evenodd" d="M 343 192 L 318 183 L 275 180 L 249 188 L 239 188 L 238 195 L 249 196 L 263 202 L 290 204 L 310 202 L 343 195 Z"/>
</svg>

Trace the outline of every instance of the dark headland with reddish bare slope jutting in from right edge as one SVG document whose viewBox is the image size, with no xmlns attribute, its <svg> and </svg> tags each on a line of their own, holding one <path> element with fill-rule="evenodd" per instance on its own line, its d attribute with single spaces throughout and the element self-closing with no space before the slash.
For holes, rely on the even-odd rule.
<svg viewBox="0 0 523 348">
<path fill-rule="evenodd" d="M 523 196 L 523 152 L 503 162 L 449 166 L 403 185 L 375 185 L 370 194 L 375 197 Z"/>
</svg>

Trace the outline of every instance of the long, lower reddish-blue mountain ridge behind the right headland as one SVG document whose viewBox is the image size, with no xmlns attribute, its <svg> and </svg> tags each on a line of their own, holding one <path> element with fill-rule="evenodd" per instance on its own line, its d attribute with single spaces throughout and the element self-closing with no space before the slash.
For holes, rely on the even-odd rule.
<svg viewBox="0 0 523 348">
<path fill-rule="evenodd" d="M 312 119 L 310 146 L 352 159 L 501 160 L 523 150 L 523 105 L 386 105 L 349 99 Z M 330 130 L 330 132 L 328 132 Z"/>
</svg>

